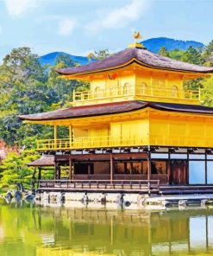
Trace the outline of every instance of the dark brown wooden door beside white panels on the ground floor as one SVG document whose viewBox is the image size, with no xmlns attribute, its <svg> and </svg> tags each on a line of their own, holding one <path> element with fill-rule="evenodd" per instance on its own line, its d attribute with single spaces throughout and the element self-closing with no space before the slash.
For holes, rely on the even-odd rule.
<svg viewBox="0 0 213 256">
<path fill-rule="evenodd" d="M 172 185 L 187 184 L 187 164 L 185 160 L 173 160 L 171 162 L 171 178 Z"/>
</svg>

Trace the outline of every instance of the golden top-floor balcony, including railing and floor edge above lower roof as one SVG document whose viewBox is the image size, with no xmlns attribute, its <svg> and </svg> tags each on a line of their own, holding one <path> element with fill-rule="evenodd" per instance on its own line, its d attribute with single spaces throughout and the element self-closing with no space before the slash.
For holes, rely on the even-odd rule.
<svg viewBox="0 0 213 256">
<path fill-rule="evenodd" d="M 90 105 L 125 99 L 138 99 L 145 101 L 174 102 L 186 104 L 199 104 L 200 92 L 197 90 L 179 90 L 178 88 L 166 88 L 153 86 L 122 86 L 98 91 L 73 91 L 74 105 Z"/>
</svg>

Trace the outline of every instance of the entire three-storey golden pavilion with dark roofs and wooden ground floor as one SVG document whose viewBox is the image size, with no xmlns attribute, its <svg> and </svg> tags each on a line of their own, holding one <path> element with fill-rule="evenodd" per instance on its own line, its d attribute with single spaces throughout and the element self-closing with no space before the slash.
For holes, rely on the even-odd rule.
<svg viewBox="0 0 213 256">
<path fill-rule="evenodd" d="M 54 138 L 38 140 L 37 150 L 54 155 L 60 189 L 65 179 L 66 188 L 74 181 L 81 188 L 89 182 L 90 189 L 94 181 L 105 189 L 138 184 L 140 190 L 146 182 L 213 188 L 213 108 L 201 105 L 201 90 L 184 88 L 185 80 L 208 77 L 213 67 L 174 61 L 135 42 L 103 60 L 56 72 L 90 82 L 90 90 L 73 92 L 72 107 L 20 118 L 53 125 Z M 66 138 L 58 138 L 60 126 L 69 128 Z M 53 184 L 41 181 L 40 189 L 57 189 Z"/>
</svg>

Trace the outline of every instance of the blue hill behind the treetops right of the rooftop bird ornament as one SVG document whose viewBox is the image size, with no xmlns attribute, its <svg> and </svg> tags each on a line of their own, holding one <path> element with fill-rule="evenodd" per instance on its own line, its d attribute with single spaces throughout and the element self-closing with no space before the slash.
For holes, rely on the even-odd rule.
<svg viewBox="0 0 213 256">
<path fill-rule="evenodd" d="M 142 43 L 149 51 L 155 54 L 159 52 L 162 46 L 165 46 L 168 51 L 174 49 L 187 50 L 190 46 L 194 48 L 204 47 L 204 43 L 202 42 L 182 41 L 166 37 L 150 38 Z"/>
</svg>

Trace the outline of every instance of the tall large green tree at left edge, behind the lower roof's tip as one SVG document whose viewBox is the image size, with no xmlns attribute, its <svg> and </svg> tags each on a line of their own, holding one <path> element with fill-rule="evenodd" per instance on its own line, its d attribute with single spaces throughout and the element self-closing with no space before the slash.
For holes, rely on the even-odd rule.
<svg viewBox="0 0 213 256">
<path fill-rule="evenodd" d="M 28 137 L 27 125 L 22 124 L 17 114 L 49 110 L 47 69 L 41 67 L 38 58 L 29 48 L 16 48 L 5 56 L 0 67 L 0 138 L 7 144 L 22 144 Z M 38 128 L 30 131 L 35 135 Z"/>
</svg>

